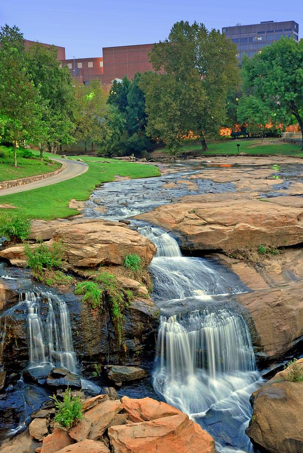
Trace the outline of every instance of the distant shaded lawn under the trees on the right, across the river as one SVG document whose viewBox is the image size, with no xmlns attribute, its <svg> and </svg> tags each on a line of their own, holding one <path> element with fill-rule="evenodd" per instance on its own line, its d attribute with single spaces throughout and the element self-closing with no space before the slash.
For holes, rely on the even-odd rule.
<svg viewBox="0 0 303 453">
<path fill-rule="evenodd" d="M 234 155 L 238 154 L 237 143 L 240 144 L 239 153 L 247 154 L 260 154 L 260 155 L 282 155 L 282 156 L 297 156 L 303 157 L 303 151 L 300 145 L 294 145 L 292 143 L 272 143 L 270 140 L 273 138 L 263 140 L 261 144 L 260 139 L 224 139 L 217 141 L 207 142 L 208 151 L 203 152 L 203 155 L 213 154 L 226 154 Z M 157 151 L 160 153 L 168 153 L 167 148 L 160 148 Z M 201 151 L 201 143 L 191 143 L 182 147 L 183 152 Z"/>
</svg>

